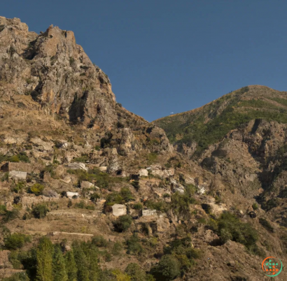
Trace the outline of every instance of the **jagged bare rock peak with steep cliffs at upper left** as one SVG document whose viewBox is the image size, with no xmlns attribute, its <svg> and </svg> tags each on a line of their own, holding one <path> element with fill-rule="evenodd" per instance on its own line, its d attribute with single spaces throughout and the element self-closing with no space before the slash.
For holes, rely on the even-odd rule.
<svg viewBox="0 0 287 281">
<path fill-rule="evenodd" d="M 116 122 L 111 82 L 76 44 L 72 31 L 51 25 L 36 34 L 16 18 L 1 17 L 0 23 L 0 80 L 10 84 L 6 94 L 31 95 L 45 113 L 71 122 L 98 120 L 102 127 Z"/>
</svg>

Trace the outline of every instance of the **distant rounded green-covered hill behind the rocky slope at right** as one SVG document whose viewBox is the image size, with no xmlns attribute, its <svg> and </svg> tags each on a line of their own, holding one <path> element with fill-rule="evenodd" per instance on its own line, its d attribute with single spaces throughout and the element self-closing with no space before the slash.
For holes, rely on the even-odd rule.
<svg viewBox="0 0 287 281">
<path fill-rule="evenodd" d="M 153 121 L 172 143 L 201 152 L 221 141 L 229 131 L 255 119 L 287 123 L 287 92 L 265 86 L 248 86 L 225 94 L 201 108 Z"/>
</svg>

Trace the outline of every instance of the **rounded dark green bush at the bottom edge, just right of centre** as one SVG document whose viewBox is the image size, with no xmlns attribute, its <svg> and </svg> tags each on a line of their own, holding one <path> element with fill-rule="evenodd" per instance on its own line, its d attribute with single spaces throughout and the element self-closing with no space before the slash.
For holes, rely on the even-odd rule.
<svg viewBox="0 0 287 281">
<path fill-rule="evenodd" d="M 155 280 L 174 280 L 181 274 L 179 261 L 170 254 L 165 254 L 157 266 L 152 268 L 152 275 Z"/>
</svg>

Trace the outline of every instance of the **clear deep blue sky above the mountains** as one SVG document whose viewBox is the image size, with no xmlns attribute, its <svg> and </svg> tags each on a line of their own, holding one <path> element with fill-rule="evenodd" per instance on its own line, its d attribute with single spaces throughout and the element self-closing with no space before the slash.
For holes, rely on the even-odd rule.
<svg viewBox="0 0 287 281">
<path fill-rule="evenodd" d="M 117 101 L 148 121 L 246 85 L 287 91 L 286 0 L 9 0 L 0 15 L 74 31 Z"/>
</svg>

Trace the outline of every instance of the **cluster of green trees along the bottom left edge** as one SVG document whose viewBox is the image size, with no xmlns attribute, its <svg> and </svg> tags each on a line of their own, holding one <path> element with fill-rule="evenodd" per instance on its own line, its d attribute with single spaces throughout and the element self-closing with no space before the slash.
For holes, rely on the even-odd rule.
<svg viewBox="0 0 287 281">
<path fill-rule="evenodd" d="M 155 281 L 138 264 L 129 264 L 125 271 L 102 270 L 99 267 L 99 250 L 105 247 L 104 238 L 90 242 L 75 240 L 71 250 L 65 251 L 64 245 L 52 244 L 43 237 L 31 250 L 13 251 L 10 262 L 15 268 L 24 268 L 26 273 L 16 273 L 5 281 Z"/>
</svg>

